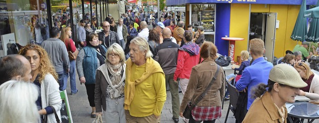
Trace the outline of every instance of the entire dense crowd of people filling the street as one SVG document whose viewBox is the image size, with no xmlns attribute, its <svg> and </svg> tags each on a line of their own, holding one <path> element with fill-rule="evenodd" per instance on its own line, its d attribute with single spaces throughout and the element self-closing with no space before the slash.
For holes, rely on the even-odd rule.
<svg viewBox="0 0 319 123">
<path fill-rule="evenodd" d="M 263 57 L 264 42 L 252 39 L 249 52 L 241 52 L 241 66 L 232 67 L 238 74 L 225 78 L 223 68 L 215 62 L 218 49 L 205 41 L 202 26 L 196 32 L 192 25 L 184 30 L 185 23 L 177 21 L 170 12 L 163 14 L 161 21 L 154 20 L 148 12 L 128 11 L 115 24 L 109 15 L 101 23 L 102 31 L 92 28 L 96 20 L 80 20 L 77 34 L 73 34 L 78 37 L 75 40 L 71 39 L 69 26 L 52 27 L 51 38 L 36 36 L 43 41 L 26 45 L 19 55 L 1 58 L 0 119 L 5 123 L 40 123 L 47 118 L 48 123 L 55 123 L 55 111 L 61 119 L 59 92 L 66 89 L 69 77 L 70 94 L 78 92 L 76 71 L 92 108 L 88 116 L 103 115 L 107 123 L 160 123 L 168 86 L 173 122 L 184 117 L 185 108 L 191 103 L 196 105 L 190 119 L 183 118 L 184 122 L 215 123 L 221 118 L 222 100 L 229 98 L 225 83 L 231 78 L 235 78 L 232 84 L 240 96 L 246 96 L 236 109 L 241 113 L 239 117 L 235 114 L 240 123 L 284 123 L 285 103 L 293 103 L 294 96 L 319 100 L 319 76 L 303 62 L 303 57 L 305 60 L 312 55 L 303 53 L 308 44 L 296 46 L 294 55 L 287 54 L 282 64 L 273 66 Z M 149 30 L 150 24 L 153 29 Z M 35 33 L 39 32 L 36 29 Z M 318 53 L 314 48 L 313 51 Z M 249 54 L 252 61 L 248 60 Z M 7 97 L 16 94 L 14 90 L 24 95 Z M 16 102 L 25 103 L 7 109 Z"/>
</svg>

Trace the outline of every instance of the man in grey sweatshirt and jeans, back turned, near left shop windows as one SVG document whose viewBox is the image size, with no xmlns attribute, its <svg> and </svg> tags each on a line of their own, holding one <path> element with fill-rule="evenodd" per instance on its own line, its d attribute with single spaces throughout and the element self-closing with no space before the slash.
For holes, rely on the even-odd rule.
<svg viewBox="0 0 319 123">
<path fill-rule="evenodd" d="M 56 73 L 59 75 L 58 82 L 60 84 L 60 91 L 65 90 L 66 81 L 63 81 L 63 70 L 70 71 L 69 55 L 63 41 L 58 39 L 60 37 L 60 30 L 53 27 L 50 30 L 49 39 L 42 42 L 42 47 L 50 56 L 51 62 L 55 68 Z"/>
</svg>

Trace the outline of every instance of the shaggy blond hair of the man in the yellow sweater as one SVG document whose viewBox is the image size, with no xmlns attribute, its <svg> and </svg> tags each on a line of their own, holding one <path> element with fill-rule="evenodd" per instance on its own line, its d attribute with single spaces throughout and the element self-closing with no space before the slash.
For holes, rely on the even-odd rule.
<svg viewBox="0 0 319 123">
<path fill-rule="evenodd" d="M 149 43 L 143 37 L 135 37 L 132 39 L 131 44 L 134 43 L 135 45 L 139 46 L 141 51 L 146 51 L 145 59 L 149 59 L 153 57 L 152 52 L 150 51 Z"/>
</svg>

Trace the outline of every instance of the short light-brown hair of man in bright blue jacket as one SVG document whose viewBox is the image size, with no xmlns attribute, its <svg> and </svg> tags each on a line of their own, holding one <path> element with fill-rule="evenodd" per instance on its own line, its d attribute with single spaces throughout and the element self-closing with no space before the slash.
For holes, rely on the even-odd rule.
<svg viewBox="0 0 319 123">
<path fill-rule="evenodd" d="M 258 38 L 250 40 L 250 52 L 252 55 L 260 56 L 265 51 L 264 41 Z"/>
</svg>

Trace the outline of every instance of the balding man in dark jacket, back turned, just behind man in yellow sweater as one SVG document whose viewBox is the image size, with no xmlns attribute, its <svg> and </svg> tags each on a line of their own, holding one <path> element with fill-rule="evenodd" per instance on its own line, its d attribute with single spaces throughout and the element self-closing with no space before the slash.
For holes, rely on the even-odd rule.
<svg viewBox="0 0 319 123">
<path fill-rule="evenodd" d="M 161 68 L 165 73 L 166 86 L 169 85 L 171 93 L 171 104 L 173 110 L 173 120 L 178 123 L 179 118 L 179 96 L 178 83 L 174 82 L 174 72 L 177 65 L 177 51 L 179 46 L 170 40 L 171 31 L 169 28 L 164 28 L 162 31 L 163 43 L 156 47 L 156 56 L 154 60 L 160 63 Z"/>
</svg>

